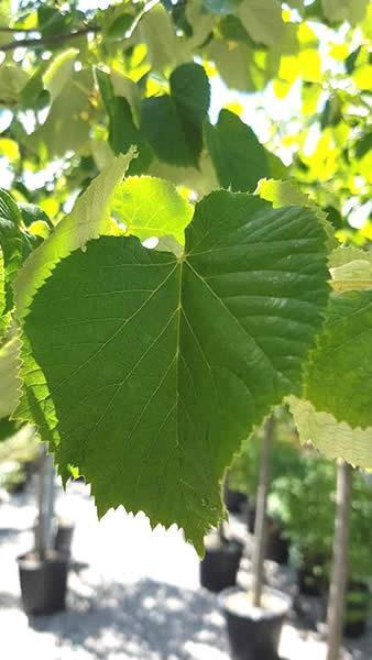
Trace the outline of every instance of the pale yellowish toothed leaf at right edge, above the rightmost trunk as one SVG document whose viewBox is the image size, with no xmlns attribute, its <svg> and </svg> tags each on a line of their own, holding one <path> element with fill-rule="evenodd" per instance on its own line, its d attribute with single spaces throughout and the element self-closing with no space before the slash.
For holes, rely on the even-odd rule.
<svg viewBox="0 0 372 660">
<path fill-rule="evenodd" d="M 302 442 L 311 442 L 328 459 L 372 469 L 372 428 L 351 428 L 329 413 L 317 413 L 314 406 L 295 396 L 287 398 Z"/>
</svg>

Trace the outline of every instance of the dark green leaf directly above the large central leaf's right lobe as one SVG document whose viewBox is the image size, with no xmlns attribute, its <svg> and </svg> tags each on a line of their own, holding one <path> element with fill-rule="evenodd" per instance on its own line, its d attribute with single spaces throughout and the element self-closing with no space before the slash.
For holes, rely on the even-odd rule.
<svg viewBox="0 0 372 660">
<path fill-rule="evenodd" d="M 265 150 L 252 129 L 230 110 L 221 110 L 214 127 L 206 123 L 206 140 L 218 180 L 223 188 L 252 193 L 269 176 Z"/>
</svg>

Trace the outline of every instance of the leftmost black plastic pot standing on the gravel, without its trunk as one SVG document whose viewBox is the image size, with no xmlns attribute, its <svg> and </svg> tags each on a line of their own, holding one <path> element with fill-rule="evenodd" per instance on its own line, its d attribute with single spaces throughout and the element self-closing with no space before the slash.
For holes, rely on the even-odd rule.
<svg viewBox="0 0 372 660">
<path fill-rule="evenodd" d="M 51 615 L 66 608 L 68 557 L 55 552 L 42 561 L 29 553 L 18 564 L 26 614 Z"/>
</svg>

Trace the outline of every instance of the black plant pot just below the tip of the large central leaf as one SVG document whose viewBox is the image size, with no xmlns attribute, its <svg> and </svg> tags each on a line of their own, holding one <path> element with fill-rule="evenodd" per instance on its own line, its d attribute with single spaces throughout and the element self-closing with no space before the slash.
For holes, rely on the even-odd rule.
<svg viewBox="0 0 372 660">
<path fill-rule="evenodd" d="M 233 539 L 206 548 L 200 561 L 200 584 L 211 592 L 237 584 L 237 574 L 243 553 L 243 543 Z"/>
</svg>

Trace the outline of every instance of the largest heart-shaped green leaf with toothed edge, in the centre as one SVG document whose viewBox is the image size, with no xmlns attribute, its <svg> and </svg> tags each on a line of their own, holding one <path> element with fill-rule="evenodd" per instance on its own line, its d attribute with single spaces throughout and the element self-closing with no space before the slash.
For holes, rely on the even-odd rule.
<svg viewBox="0 0 372 660">
<path fill-rule="evenodd" d="M 24 327 L 56 462 L 79 468 L 100 515 L 142 509 L 203 552 L 225 466 L 300 391 L 328 298 L 324 241 L 307 209 L 219 191 L 196 206 L 179 258 L 102 237 L 56 266 Z"/>
</svg>

